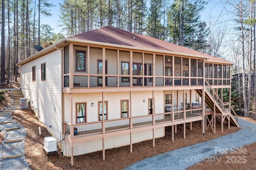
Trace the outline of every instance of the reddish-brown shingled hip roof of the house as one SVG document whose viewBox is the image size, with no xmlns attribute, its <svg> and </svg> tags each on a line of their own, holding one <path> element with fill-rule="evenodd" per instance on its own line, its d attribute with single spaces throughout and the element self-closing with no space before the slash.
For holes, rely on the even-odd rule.
<svg viewBox="0 0 256 170">
<path fill-rule="evenodd" d="M 156 38 L 152 38 L 149 36 L 120 30 L 112 26 L 106 26 L 96 30 L 91 30 L 88 32 L 84 32 L 82 34 L 70 36 L 68 38 L 146 48 L 149 50 L 154 49 L 154 50 L 161 50 L 166 52 L 182 53 L 184 55 L 188 54 L 188 55 L 202 56 L 202 57 L 210 58 L 208 60 L 212 62 L 234 64 L 230 61 L 226 61 L 224 59 L 220 59 L 211 55 L 194 51 L 186 47 L 181 47 L 179 45 L 168 43 L 168 42 L 158 40 Z"/>
</svg>

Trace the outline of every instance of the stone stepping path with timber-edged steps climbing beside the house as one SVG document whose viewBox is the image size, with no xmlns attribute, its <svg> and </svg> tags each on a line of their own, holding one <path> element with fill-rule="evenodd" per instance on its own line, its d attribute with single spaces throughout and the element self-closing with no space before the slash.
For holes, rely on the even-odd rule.
<svg viewBox="0 0 256 170">
<path fill-rule="evenodd" d="M 0 170 L 29 170 L 25 159 L 26 131 L 21 125 L 12 121 L 12 111 L 20 106 L 20 98 L 24 98 L 20 89 L 13 90 L 12 105 L 0 111 L 0 129 L 4 130 L 4 141 L 0 144 Z"/>
</svg>

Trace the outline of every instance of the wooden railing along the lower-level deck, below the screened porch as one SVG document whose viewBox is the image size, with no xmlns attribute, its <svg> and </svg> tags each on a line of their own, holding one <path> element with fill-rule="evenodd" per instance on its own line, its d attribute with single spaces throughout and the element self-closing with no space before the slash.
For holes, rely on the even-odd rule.
<svg viewBox="0 0 256 170">
<path fill-rule="evenodd" d="M 191 119 L 194 117 L 202 117 L 202 108 L 190 109 L 186 111 L 160 113 L 155 115 L 112 119 L 91 123 L 77 123 L 74 125 L 71 125 L 68 122 L 64 122 L 64 128 L 66 130 L 66 134 L 74 136 L 74 138 L 76 138 L 80 136 L 102 134 L 106 132 L 124 130 L 129 128 L 138 128 L 154 124 L 180 121 L 184 119 Z"/>
</svg>

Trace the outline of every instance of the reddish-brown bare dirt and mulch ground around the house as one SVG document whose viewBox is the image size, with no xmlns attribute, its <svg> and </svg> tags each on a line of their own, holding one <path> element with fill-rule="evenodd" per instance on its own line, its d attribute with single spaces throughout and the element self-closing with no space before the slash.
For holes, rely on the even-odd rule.
<svg viewBox="0 0 256 170">
<path fill-rule="evenodd" d="M 7 104 L 7 103 L 5 103 Z M 2 103 L 0 103 L 2 107 Z M 172 142 L 171 128 L 166 127 L 166 135 L 162 138 L 157 138 L 155 140 L 155 147 L 152 146 L 152 140 L 147 140 L 139 142 L 132 145 L 132 153 L 130 153 L 130 146 L 122 146 L 120 148 L 108 149 L 105 151 L 105 160 L 102 160 L 102 151 L 93 152 L 90 154 L 84 154 L 74 157 L 74 166 L 70 166 L 70 158 L 64 157 L 61 155 L 59 150 L 57 159 L 57 154 L 49 156 L 49 161 L 47 155 L 43 152 L 42 148 L 44 146 L 44 137 L 51 136 L 50 133 L 46 130 L 44 125 L 38 121 L 35 114 L 30 109 L 16 110 L 12 115 L 13 120 L 21 124 L 26 130 L 25 138 L 25 158 L 28 161 L 30 168 L 32 170 L 61 170 L 61 169 L 122 169 L 130 164 L 170 150 L 175 150 L 199 142 L 204 142 L 225 134 L 233 133 L 239 130 L 238 127 L 230 126 L 228 130 L 227 123 L 224 124 L 224 132 L 220 130 L 220 120 L 216 121 L 216 134 L 212 132 L 210 128 L 205 131 L 205 135 L 202 135 L 202 128 L 200 121 L 192 123 L 192 130 L 189 128 L 189 124 L 186 125 L 186 139 L 183 138 L 183 125 L 177 126 L 177 133 L 174 134 L 174 142 Z M 247 118 L 253 121 L 250 118 Z M 256 121 L 254 121 L 256 122 Z M 41 127 L 42 134 L 39 135 L 38 127 Z M 2 137 L 1 137 L 2 136 Z M 0 132 L 0 140 L 3 138 L 3 133 Z M 0 141 L 1 142 L 1 141 Z M 215 162 L 201 162 L 200 164 L 189 167 L 188 169 L 255 169 L 256 165 L 254 163 L 256 159 L 256 143 L 245 146 L 247 149 L 246 154 L 246 163 L 236 164 L 232 163 L 233 160 L 230 160 L 231 163 L 227 162 L 228 155 L 223 155 L 219 164 Z M 236 154 L 230 154 L 236 156 Z M 241 154 L 237 155 L 241 156 Z M 219 156 L 220 157 L 220 156 Z M 219 158 L 218 157 L 218 158 Z M 243 157 L 244 158 L 244 157 Z M 244 159 L 242 159 L 244 160 Z M 241 160 L 241 162 L 242 162 Z"/>
</svg>

